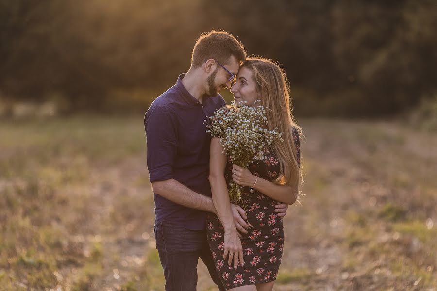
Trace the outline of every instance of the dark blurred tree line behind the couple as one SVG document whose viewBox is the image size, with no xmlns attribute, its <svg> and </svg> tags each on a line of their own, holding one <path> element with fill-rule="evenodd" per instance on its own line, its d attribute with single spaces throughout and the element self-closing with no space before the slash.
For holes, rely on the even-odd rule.
<svg viewBox="0 0 437 291">
<path fill-rule="evenodd" d="M 140 110 L 222 29 L 278 61 L 298 115 L 382 116 L 436 94 L 433 0 L 0 0 L 0 99 Z"/>
</svg>

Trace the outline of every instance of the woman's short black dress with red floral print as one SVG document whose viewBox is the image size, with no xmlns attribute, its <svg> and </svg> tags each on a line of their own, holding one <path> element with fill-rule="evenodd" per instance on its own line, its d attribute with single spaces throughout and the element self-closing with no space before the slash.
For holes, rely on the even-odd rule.
<svg viewBox="0 0 437 291">
<path fill-rule="evenodd" d="M 299 135 L 295 129 L 293 137 L 300 164 Z M 266 151 L 266 156 L 267 160 L 255 161 L 249 166 L 249 170 L 253 175 L 273 181 L 279 175 L 280 164 L 271 150 Z M 232 181 L 231 171 L 232 163 L 228 160 L 225 170 L 228 185 Z M 241 239 L 244 267 L 238 264 L 235 270 L 234 263 L 228 266 L 227 260 L 223 260 L 223 226 L 213 213 L 208 213 L 206 219 L 207 241 L 226 289 L 274 281 L 278 275 L 284 249 L 282 219 L 274 211 L 276 201 L 256 190 L 251 193 L 250 187 L 243 187 L 242 192 L 242 201 L 250 224 L 248 233 L 243 234 Z"/>
</svg>

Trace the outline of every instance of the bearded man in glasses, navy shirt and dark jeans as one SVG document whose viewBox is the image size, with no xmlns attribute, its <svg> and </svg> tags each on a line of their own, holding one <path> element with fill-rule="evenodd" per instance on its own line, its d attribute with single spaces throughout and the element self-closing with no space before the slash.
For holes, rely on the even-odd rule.
<svg viewBox="0 0 437 291">
<path fill-rule="evenodd" d="M 205 211 L 216 210 L 208 181 L 211 137 L 203 120 L 226 105 L 219 92 L 231 87 L 244 60 L 244 48 L 234 36 L 218 31 L 202 34 L 188 72 L 157 97 L 145 115 L 154 232 L 166 290 L 196 290 L 199 258 L 219 289 L 225 290 L 206 242 Z M 287 207 L 278 205 L 278 215 L 284 216 Z M 236 228 L 247 233 L 244 210 L 232 205 L 232 211 Z"/>
</svg>

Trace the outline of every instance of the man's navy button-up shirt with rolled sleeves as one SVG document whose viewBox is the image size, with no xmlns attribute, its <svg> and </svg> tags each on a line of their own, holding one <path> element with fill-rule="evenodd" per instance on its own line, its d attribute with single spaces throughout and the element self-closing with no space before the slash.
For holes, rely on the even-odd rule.
<svg viewBox="0 0 437 291">
<path fill-rule="evenodd" d="M 150 182 L 175 179 L 189 189 L 211 196 L 209 176 L 209 146 L 203 120 L 226 105 L 224 99 L 207 97 L 200 103 L 182 84 L 157 97 L 144 117 L 147 140 L 147 167 Z M 175 193 L 178 195 L 178 193 Z M 188 229 L 203 230 L 206 213 L 176 204 L 154 194 L 155 226 L 170 221 Z"/>
</svg>

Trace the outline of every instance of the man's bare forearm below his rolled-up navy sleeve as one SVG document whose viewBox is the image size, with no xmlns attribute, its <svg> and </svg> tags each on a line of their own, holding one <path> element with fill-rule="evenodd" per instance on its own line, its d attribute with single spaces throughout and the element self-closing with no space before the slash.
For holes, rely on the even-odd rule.
<svg viewBox="0 0 437 291">
<path fill-rule="evenodd" d="M 196 193 L 175 179 L 152 183 L 153 192 L 185 207 L 216 213 L 211 197 Z"/>
</svg>

